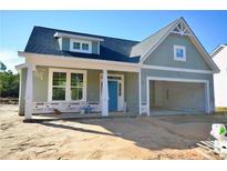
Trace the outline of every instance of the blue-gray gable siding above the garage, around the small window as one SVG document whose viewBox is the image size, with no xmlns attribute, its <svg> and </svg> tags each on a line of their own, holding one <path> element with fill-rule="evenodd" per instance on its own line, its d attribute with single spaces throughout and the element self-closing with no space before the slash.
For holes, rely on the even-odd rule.
<svg viewBox="0 0 227 171">
<path fill-rule="evenodd" d="M 186 61 L 174 60 L 174 44 L 186 47 Z M 189 38 L 176 34 L 169 34 L 144 61 L 144 64 L 210 70 Z"/>
</svg>

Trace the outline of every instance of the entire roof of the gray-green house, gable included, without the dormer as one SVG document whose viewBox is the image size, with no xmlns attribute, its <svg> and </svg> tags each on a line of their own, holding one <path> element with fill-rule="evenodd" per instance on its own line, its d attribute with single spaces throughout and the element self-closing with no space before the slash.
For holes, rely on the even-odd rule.
<svg viewBox="0 0 227 171">
<path fill-rule="evenodd" d="M 182 30 L 180 30 L 182 29 Z M 183 18 L 179 18 L 171 22 L 165 28 L 161 29 L 156 33 L 146 38 L 143 41 L 133 41 L 118 38 L 87 34 L 81 32 L 73 32 L 66 30 L 34 27 L 29 38 L 24 52 L 39 53 L 39 54 L 53 54 L 65 57 L 79 57 L 85 59 L 99 59 L 109 61 L 142 63 L 171 32 L 178 31 L 182 34 L 188 36 L 195 47 L 199 50 L 207 64 L 214 72 L 219 72 L 219 69 L 211 60 L 205 48 L 198 41 L 192 29 L 188 27 Z M 74 37 L 89 37 L 90 39 L 99 39 L 100 41 L 100 54 L 94 53 L 80 53 L 71 51 L 60 50 L 58 39 L 54 37 L 56 33 L 70 34 Z"/>
</svg>

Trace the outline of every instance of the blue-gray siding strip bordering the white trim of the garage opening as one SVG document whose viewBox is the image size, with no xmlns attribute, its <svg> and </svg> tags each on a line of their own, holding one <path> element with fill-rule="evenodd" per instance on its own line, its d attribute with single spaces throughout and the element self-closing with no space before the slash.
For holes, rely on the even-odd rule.
<svg viewBox="0 0 227 171">
<path fill-rule="evenodd" d="M 213 74 L 142 69 L 141 70 L 142 103 L 146 103 L 146 92 L 147 92 L 147 90 L 146 90 L 146 79 L 147 79 L 147 77 L 208 80 L 209 81 L 210 109 L 214 111 L 214 81 L 213 81 Z"/>
</svg>

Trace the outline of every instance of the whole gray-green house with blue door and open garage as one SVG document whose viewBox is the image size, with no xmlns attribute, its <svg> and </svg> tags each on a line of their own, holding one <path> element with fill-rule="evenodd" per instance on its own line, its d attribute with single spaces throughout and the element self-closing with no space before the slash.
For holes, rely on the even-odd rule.
<svg viewBox="0 0 227 171">
<path fill-rule="evenodd" d="M 20 114 L 81 112 L 109 115 L 154 110 L 210 113 L 219 72 L 179 18 L 143 41 L 34 27 L 20 71 Z"/>
</svg>

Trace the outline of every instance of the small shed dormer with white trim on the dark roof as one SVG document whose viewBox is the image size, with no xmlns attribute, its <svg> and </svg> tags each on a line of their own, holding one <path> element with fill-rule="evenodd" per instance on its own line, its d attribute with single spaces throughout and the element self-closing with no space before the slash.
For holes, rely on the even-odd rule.
<svg viewBox="0 0 227 171">
<path fill-rule="evenodd" d="M 100 42 L 103 41 L 95 37 L 64 32 L 55 32 L 54 38 L 59 40 L 60 50 L 94 54 L 100 54 Z"/>
</svg>

